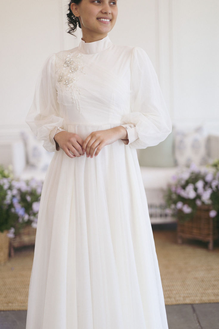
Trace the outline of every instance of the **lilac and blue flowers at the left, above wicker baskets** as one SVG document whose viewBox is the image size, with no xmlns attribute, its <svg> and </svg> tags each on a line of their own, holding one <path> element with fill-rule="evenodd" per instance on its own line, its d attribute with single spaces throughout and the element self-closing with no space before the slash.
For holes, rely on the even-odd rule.
<svg viewBox="0 0 219 329">
<path fill-rule="evenodd" d="M 37 227 L 42 181 L 14 179 L 12 168 L 0 166 L 0 231 L 14 236 L 26 225 Z"/>
</svg>

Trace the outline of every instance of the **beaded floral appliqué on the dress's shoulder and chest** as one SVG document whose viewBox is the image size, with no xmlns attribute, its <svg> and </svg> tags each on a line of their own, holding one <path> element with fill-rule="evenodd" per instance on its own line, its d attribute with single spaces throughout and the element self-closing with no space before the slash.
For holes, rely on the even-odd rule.
<svg viewBox="0 0 219 329">
<path fill-rule="evenodd" d="M 80 95 L 82 95 L 82 92 L 78 88 L 77 84 L 79 72 L 84 73 L 84 64 L 82 61 L 83 56 L 84 55 L 80 53 L 73 55 L 71 50 L 66 58 L 61 58 L 57 54 L 57 57 L 61 60 L 61 63 L 56 65 L 61 93 L 63 85 L 70 91 L 72 103 L 79 110 L 79 113 L 81 113 Z"/>
</svg>

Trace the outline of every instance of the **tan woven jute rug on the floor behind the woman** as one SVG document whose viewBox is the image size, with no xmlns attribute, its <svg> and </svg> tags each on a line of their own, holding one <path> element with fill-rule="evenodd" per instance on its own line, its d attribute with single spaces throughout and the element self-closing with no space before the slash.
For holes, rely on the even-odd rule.
<svg viewBox="0 0 219 329">
<path fill-rule="evenodd" d="M 154 231 L 166 305 L 219 302 L 219 242 L 186 240 L 177 244 L 176 231 Z M 0 310 L 27 310 L 34 246 L 15 249 L 0 265 Z"/>
</svg>

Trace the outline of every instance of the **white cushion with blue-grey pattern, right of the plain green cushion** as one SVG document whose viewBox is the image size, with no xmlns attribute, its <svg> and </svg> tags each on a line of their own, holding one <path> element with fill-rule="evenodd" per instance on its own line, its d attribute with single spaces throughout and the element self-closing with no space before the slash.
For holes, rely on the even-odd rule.
<svg viewBox="0 0 219 329">
<path fill-rule="evenodd" d="M 174 139 L 176 165 L 188 167 L 192 162 L 205 165 L 209 162 L 207 155 L 208 140 L 203 126 L 186 131 L 176 129 Z"/>
</svg>

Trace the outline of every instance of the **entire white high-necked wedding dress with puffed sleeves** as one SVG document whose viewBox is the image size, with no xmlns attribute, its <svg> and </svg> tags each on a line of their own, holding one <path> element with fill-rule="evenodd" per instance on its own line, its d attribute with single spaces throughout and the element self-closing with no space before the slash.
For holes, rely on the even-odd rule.
<svg viewBox="0 0 219 329">
<path fill-rule="evenodd" d="M 167 329 L 137 148 L 157 145 L 171 120 L 150 59 L 102 40 L 52 54 L 26 122 L 55 151 L 43 184 L 26 329 Z M 60 127 L 84 140 L 130 124 L 129 140 L 69 158 Z"/>
</svg>

